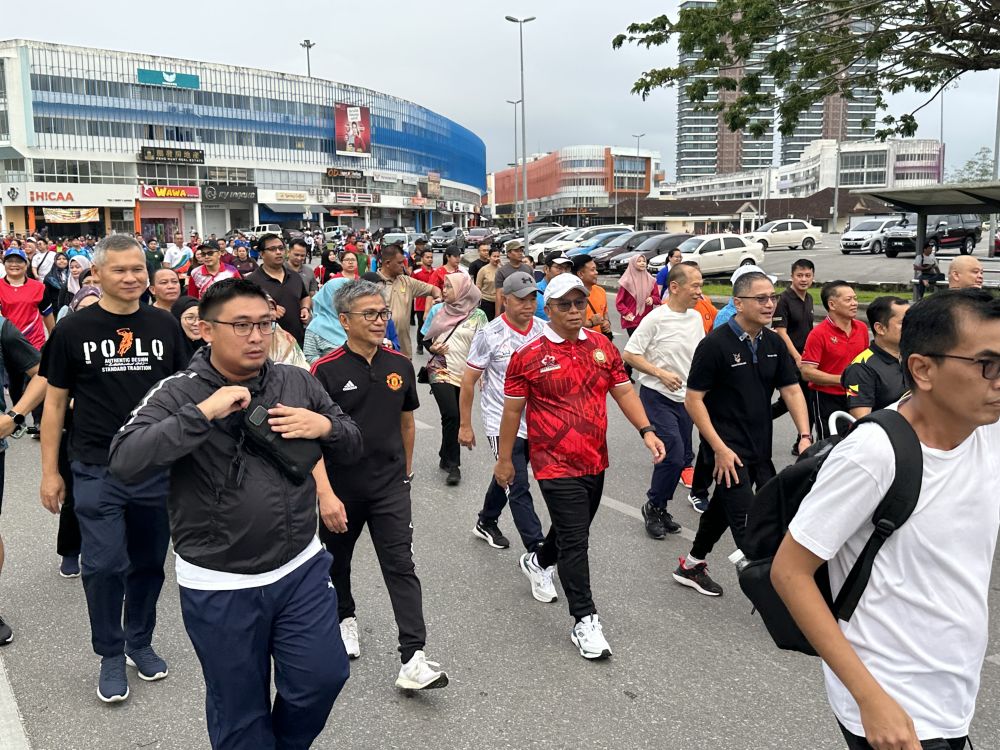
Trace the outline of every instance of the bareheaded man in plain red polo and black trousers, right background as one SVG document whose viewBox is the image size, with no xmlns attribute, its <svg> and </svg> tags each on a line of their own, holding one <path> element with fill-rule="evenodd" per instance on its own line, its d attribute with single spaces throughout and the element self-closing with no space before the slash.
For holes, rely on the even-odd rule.
<svg viewBox="0 0 1000 750">
<path fill-rule="evenodd" d="M 827 282 L 820 299 L 827 317 L 809 332 L 799 366 L 809 383 L 818 440 L 830 435 L 830 415 L 847 411 L 847 391 L 840 384 L 840 376 L 868 348 L 868 329 L 856 320 L 858 296 L 850 284 Z"/>
</svg>

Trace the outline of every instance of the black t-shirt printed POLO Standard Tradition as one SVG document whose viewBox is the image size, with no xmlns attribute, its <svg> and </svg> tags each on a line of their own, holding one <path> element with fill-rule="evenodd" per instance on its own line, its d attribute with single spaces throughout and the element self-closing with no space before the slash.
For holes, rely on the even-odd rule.
<svg viewBox="0 0 1000 750">
<path fill-rule="evenodd" d="M 72 460 L 107 465 L 111 438 L 132 410 L 156 383 L 187 367 L 183 335 L 170 313 L 150 305 L 129 315 L 90 305 L 52 329 L 41 370 L 74 401 Z"/>
</svg>

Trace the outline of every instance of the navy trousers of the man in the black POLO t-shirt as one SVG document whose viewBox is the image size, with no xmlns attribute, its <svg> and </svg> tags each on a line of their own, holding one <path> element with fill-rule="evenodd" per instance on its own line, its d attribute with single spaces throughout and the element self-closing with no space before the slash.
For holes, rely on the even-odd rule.
<svg viewBox="0 0 1000 750">
<path fill-rule="evenodd" d="M 123 484 L 107 466 L 73 461 L 71 468 L 91 643 L 99 656 L 120 656 L 153 639 L 170 541 L 170 476 Z"/>
</svg>

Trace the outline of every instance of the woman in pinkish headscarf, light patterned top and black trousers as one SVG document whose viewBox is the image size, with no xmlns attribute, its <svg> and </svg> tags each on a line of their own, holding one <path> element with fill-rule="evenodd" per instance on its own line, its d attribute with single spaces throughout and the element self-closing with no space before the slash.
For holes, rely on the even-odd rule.
<svg viewBox="0 0 1000 750">
<path fill-rule="evenodd" d="M 445 483 L 454 487 L 462 481 L 458 394 L 472 338 L 489 321 L 479 307 L 482 294 L 467 273 L 459 271 L 445 276 L 441 293 L 444 301 L 427 311 L 420 334 L 424 337 L 424 347 L 433 355 L 427 363 L 427 375 L 441 412 L 439 466 L 448 472 Z"/>
</svg>

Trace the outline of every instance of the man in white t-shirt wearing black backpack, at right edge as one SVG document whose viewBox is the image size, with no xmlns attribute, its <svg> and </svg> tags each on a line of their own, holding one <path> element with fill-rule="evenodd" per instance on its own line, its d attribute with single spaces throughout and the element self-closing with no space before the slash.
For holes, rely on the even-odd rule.
<svg viewBox="0 0 1000 750">
<path fill-rule="evenodd" d="M 916 509 L 838 623 L 813 574 L 828 561 L 836 596 L 895 475 L 888 437 L 862 425 L 823 465 L 771 579 L 823 658 L 848 748 L 964 748 L 1000 529 L 1000 305 L 980 290 L 938 292 L 907 312 L 900 355 L 910 396 L 895 408 L 923 454 Z"/>
</svg>

